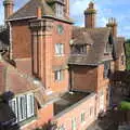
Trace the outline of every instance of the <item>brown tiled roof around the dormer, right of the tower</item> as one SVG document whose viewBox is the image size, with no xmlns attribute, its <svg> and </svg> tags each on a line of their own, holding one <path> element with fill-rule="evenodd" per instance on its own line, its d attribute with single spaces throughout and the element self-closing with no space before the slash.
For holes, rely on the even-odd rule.
<svg viewBox="0 0 130 130">
<path fill-rule="evenodd" d="M 104 28 L 77 28 L 75 31 L 83 31 L 90 36 L 89 39 L 93 41 L 90 50 L 84 55 L 72 55 L 68 60 L 69 64 L 77 65 L 98 65 L 103 61 L 112 60 L 112 56 L 104 56 L 105 44 L 110 36 L 110 29 Z M 82 40 L 82 43 L 84 41 Z"/>
</svg>

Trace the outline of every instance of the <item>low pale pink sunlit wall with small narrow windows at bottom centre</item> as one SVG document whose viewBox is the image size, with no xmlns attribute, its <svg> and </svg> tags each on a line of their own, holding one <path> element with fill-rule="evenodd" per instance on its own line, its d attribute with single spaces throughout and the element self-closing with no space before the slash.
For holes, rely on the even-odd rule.
<svg viewBox="0 0 130 130">
<path fill-rule="evenodd" d="M 84 122 L 81 122 L 81 113 L 84 113 Z M 70 108 L 65 109 L 54 117 L 57 127 L 64 126 L 72 130 L 72 119 L 76 118 L 76 130 L 86 130 L 96 118 L 95 115 L 95 94 L 88 95 Z"/>
</svg>

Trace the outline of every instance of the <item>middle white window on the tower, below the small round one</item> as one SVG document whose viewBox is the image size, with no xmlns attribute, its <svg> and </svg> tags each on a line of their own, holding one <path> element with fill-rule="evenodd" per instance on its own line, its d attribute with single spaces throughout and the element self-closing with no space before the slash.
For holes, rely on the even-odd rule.
<svg viewBox="0 0 130 130">
<path fill-rule="evenodd" d="M 56 56 L 63 56 L 64 55 L 64 44 L 63 43 L 56 43 L 55 44 L 55 54 L 56 54 Z"/>
</svg>

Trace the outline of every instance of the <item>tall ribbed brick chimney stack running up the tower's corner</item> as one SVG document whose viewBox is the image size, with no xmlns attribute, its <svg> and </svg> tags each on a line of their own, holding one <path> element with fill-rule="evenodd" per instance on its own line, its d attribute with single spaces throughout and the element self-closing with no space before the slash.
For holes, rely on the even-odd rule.
<svg viewBox="0 0 130 130">
<path fill-rule="evenodd" d="M 39 78 L 44 87 L 50 88 L 51 44 L 53 21 L 42 18 L 42 9 L 37 9 L 37 18 L 29 22 L 31 31 L 32 75 Z"/>
</svg>

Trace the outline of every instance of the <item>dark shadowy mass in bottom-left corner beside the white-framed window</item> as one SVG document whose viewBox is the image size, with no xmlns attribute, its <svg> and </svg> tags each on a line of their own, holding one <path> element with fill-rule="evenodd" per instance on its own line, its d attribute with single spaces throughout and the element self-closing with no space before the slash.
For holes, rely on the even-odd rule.
<svg viewBox="0 0 130 130">
<path fill-rule="evenodd" d="M 10 91 L 0 95 L 0 130 L 20 130 L 15 114 L 9 105 L 13 96 L 14 94 Z"/>
</svg>

